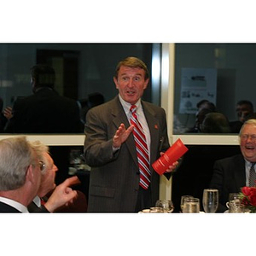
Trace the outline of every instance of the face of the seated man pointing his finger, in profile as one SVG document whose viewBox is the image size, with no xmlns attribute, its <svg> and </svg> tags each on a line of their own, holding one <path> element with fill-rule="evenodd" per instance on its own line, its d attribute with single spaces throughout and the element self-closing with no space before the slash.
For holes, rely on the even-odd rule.
<svg viewBox="0 0 256 256">
<path fill-rule="evenodd" d="M 54 161 L 50 155 L 45 153 L 44 157 L 47 160 L 45 163 L 46 170 L 44 174 L 42 174 L 41 184 L 38 190 L 38 195 L 41 197 L 49 193 L 49 191 L 55 189 L 55 174 L 58 171 L 58 168 L 55 166 Z"/>
</svg>

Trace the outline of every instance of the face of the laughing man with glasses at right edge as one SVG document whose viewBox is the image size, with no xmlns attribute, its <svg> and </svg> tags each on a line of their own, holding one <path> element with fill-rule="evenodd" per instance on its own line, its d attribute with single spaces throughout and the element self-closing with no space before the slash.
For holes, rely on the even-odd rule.
<svg viewBox="0 0 256 256">
<path fill-rule="evenodd" d="M 244 125 L 241 131 L 240 148 L 243 157 L 256 162 L 256 125 Z"/>
</svg>

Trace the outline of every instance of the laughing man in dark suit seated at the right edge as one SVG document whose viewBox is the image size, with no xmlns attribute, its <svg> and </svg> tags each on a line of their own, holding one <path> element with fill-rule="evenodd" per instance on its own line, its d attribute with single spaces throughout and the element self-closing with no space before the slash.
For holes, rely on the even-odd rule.
<svg viewBox="0 0 256 256">
<path fill-rule="evenodd" d="M 256 185 L 249 183 L 250 169 L 256 162 L 256 119 L 249 119 L 241 126 L 239 137 L 241 154 L 217 160 L 213 166 L 210 188 L 218 189 L 219 212 L 228 209 L 225 204 L 230 193 L 239 193 L 244 186 Z"/>
</svg>

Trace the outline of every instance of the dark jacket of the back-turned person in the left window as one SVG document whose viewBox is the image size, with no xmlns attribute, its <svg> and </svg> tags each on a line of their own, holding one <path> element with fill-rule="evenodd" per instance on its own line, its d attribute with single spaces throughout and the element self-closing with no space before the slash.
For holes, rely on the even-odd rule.
<svg viewBox="0 0 256 256">
<path fill-rule="evenodd" d="M 55 90 L 48 88 L 42 88 L 32 96 L 17 99 L 13 114 L 5 132 L 75 133 L 83 131 L 78 103 L 59 96 Z"/>
</svg>

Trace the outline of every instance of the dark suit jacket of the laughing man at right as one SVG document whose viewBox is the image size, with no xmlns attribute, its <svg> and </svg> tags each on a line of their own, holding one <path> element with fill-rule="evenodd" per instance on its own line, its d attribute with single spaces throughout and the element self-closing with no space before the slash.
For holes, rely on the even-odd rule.
<svg viewBox="0 0 256 256">
<path fill-rule="evenodd" d="M 246 170 L 242 154 L 217 160 L 214 163 L 210 188 L 218 189 L 219 212 L 224 212 L 228 209 L 225 204 L 229 201 L 229 194 L 241 192 L 241 188 L 245 185 Z"/>
</svg>

